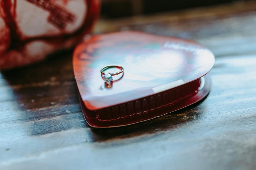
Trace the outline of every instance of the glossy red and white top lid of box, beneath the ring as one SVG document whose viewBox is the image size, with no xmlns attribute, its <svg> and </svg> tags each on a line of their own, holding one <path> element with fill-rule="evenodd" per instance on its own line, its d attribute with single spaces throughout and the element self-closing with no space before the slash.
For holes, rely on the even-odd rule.
<svg viewBox="0 0 256 170">
<path fill-rule="evenodd" d="M 110 85 L 100 73 L 108 64 L 124 67 L 124 75 L 113 76 Z M 213 53 L 194 41 L 133 31 L 92 36 L 73 55 L 78 90 L 88 110 L 175 88 L 204 76 L 213 64 Z"/>
</svg>

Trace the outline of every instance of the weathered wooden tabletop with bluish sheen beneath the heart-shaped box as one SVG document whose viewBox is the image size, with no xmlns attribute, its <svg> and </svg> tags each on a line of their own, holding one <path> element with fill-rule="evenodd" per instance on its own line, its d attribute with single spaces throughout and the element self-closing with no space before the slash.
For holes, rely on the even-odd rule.
<svg viewBox="0 0 256 170">
<path fill-rule="evenodd" d="M 0 169 L 256 169 L 256 3 L 99 21 L 196 40 L 216 56 L 202 102 L 95 129 L 79 105 L 72 53 L 0 75 Z"/>
</svg>

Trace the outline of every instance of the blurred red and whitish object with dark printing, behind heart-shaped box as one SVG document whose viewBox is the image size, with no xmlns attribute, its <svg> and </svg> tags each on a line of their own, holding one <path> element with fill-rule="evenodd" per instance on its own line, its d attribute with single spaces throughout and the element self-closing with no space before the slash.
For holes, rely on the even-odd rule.
<svg viewBox="0 0 256 170">
<path fill-rule="evenodd" d="M 0 0 L 0 69 L 42 61 L 91 32 L 100 0 Z"/>
</svg>

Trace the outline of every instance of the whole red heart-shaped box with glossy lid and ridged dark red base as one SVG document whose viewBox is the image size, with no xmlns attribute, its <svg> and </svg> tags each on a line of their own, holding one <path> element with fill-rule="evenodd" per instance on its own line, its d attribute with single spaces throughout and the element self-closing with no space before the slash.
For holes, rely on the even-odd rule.
<svg viewBox="0 0 256 170">
<path fill-rule="evenodd" d="M 110 83 L 100 73 L 108 64 L 124 68 Z M 84 117 L 97 128 L 153 119 L 203 99 L 213 64 L 213 53 L 194 41 L 134 31 L 91 36 L 73 55 Z"/>
</svg>

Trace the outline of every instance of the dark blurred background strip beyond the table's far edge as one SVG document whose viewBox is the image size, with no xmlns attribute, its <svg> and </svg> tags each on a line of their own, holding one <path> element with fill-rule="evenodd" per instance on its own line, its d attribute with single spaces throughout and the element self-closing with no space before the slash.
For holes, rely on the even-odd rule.
<svg viewBox="0 0 256 170">
<path fill-rule="evenodd" d="M 128 17 L 137 14 L 202 7 L 236 0 L 102 0 L 102 18 Z"/>
</svg>

